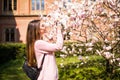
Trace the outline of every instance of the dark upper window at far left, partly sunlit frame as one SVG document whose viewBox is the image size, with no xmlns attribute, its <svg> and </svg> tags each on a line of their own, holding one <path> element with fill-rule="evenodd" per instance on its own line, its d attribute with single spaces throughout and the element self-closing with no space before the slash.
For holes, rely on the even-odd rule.
<svg viewBox="0 0 120 80">
<path fill-rule="evenodd" d="M 3 9 L 4 11 L 17 10 L 17 0 L 4 0 Z"/>
</svg>

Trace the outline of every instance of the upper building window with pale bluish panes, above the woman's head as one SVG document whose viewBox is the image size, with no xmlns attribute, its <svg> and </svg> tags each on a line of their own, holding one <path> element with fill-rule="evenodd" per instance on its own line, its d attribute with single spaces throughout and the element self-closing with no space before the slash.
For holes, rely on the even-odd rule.
<svg viewBox="0 0 120 80">
<path fill-rule="evenodd" d="M 32 10 L 44 10 L 44 0 L 31 0 Z"/>
</svg>

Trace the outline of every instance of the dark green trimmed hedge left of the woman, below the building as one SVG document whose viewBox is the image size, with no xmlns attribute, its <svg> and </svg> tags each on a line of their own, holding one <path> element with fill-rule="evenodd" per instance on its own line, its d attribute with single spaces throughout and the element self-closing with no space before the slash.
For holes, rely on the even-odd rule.
<svg viewBox="0 0 120 80">
<path fill-rule="evenodd" d="M 0 44 L 0 63 L 21 58 L 24 53 L 25 45 L 23 43 L 2 43 Z"/>
</svg>

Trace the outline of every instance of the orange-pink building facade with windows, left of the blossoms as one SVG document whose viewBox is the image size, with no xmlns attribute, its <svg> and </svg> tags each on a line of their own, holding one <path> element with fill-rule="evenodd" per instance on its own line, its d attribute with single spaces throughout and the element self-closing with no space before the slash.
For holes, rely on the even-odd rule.
<svg viewBox="0 0 120 80">
<path fill-rule="evenodd" d="M 46 15 L 53 0 L 1 0 L 0 43 L 26 41 L 29 21 Z"/>
</svg>

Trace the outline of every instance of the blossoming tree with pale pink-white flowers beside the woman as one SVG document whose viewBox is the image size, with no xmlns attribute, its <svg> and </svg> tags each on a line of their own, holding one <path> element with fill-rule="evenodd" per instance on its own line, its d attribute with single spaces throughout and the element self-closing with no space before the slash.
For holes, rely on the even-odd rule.
<svg viewBox="0 0 120 80">
<path fill-rule="evenodd" d="M 120 66 L 120 0 L 55 1 L 44 19 L 46 26 L 62 23 L 64 34 L 77 40 L 94 43 L 101 41 L 96 53 L 106 59 L 106 71 Z"/>
</svg>

